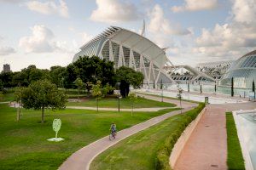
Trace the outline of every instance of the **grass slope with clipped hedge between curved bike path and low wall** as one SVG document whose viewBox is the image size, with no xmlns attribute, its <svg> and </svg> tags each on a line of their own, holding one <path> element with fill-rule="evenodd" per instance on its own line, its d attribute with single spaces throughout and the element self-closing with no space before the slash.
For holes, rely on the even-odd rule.
<svg viewBox="0 0 256 170">
<path fill-rule="evenodd" d="M 170 169 L 169 156 L 174 144 L 204 106 L 200 104 L 122 140 L 97 156 L 90 169 Z"/>
</svg>

